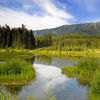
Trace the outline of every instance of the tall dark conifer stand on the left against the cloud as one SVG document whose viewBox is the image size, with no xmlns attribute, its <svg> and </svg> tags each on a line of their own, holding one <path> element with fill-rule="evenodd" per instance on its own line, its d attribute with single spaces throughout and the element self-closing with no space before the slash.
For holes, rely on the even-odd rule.
<svg viewBox="0 0 100 100">
<path fill-rule="evenodd" d="M 35 38 L 32 30 L 22 24 L 19 28 L 10 28 L 8 25 L 0 26 L 0 48 L 34 49 Z"/>
</svg>

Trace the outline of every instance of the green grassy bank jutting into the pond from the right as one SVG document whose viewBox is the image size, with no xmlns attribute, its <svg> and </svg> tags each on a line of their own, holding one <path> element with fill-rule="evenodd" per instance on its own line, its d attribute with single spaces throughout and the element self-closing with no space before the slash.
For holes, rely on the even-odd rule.
<svg viewBox="0 0 100 100">
<path fill-rule="evenodd" d="M 90 100 L 100 100 L 100 64 L 96 59 L 82 59 L 75 67 L 62 67 L 69 77 L 76 77 L 82 85 L 90 86 Z"/>
</svg>

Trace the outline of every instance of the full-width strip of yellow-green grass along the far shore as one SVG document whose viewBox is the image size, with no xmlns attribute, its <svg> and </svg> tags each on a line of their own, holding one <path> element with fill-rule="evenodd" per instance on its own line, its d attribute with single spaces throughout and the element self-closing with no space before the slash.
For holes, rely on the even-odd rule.
<svg viewBox="0 0 100 100">
<path fill-rule="evenodd" d="M 20 55 L 22 57 L 31 55 L 72 56 L 72 57 L 100 57 L 100 49 L 89 49 L 85 51 L 51 51 L 47 48 L 28 49 L 0 49 L 5 55 Z M 6 54 L 8 53 L 8 54 Z"/>
</svg>

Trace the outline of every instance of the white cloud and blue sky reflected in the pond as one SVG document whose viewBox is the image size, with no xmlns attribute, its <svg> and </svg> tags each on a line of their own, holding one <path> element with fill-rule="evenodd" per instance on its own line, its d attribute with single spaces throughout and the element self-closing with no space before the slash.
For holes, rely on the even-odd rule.
<svg viewBox="0 0 100 100">
<path fill-rule="evenodd" d="M 86 100 L 87 87 L 80 86 L 76 79 L 69 79 L 61 74 L 61 69 L 51 65 L 34 64 L 37 80 L 24 87 L 20 97 L 26 100 L 29 96 L 44 99 L 45 92 L 51 90 L 57 100 Z"/>
</svg>

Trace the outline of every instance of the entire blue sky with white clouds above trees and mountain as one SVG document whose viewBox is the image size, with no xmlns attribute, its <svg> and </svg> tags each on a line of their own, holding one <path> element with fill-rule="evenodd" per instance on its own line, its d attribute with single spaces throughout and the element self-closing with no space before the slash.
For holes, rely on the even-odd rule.
<svg viewBox="0 0 100 100">
<path fill-rule="evenodd" d="M 100 21 L 100 0 L 0 0 L 0 24 L 40 30 Z"/>
</svg>

